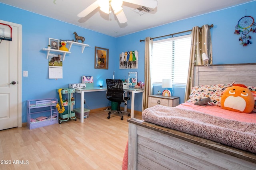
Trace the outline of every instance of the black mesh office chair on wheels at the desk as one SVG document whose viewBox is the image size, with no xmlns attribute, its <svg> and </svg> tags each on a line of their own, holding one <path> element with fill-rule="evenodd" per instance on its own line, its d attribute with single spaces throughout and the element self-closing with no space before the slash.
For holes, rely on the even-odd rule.
<svg viewBox="0 0 256 170">
<path fill-rule="evenodd" d="M 114 113 L 118 113 L 121 116 L 121 120 L 124 119 L 123 113 L 128 113 L 128 116 L 130 116 L 129 112 L 120 110 L 120 104 L 122 102 L 126 102 L 130 100 L 130 94 L 131 94 L 130 92 L 124 91 L 122 80 L 106 79 L 106 84 L 107 84 L 106 98 L 111 102 L 118 103 L 117 110 L 110 111 L 108 113 L 108 119 L 110 118 L 110 115 Z"/>
</svg>

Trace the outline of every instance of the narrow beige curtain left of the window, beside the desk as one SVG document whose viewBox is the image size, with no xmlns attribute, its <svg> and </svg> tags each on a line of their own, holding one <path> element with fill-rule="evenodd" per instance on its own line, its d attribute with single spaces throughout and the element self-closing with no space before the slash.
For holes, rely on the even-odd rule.
<svg viewBox="0 0 256 170">
<path fill-rule="evenodd" d="M 144 66 L 144 75 L 145 75 L 145 88 L 144 88 L 144 102 L 142 106 L 142 111 L 148 108 L 148 95 L 151 95 L 152 85 L 150 78 L 150 55 L 152 54 L 152 39 L 146 37 L 145 39 L 145 66 Z"/>
</svg>

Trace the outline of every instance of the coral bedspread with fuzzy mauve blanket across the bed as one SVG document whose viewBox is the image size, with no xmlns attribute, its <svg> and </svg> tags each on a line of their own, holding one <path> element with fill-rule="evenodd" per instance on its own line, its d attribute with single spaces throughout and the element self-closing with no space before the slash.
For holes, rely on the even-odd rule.
<svg viewBox="0 0 256 170">
<path fill-rule="evenodd" d="M 231 147 L 256 153 L 256 113 L 238 113 L 218 106 L 156 105 L 142 119 Z"/>
</svg>

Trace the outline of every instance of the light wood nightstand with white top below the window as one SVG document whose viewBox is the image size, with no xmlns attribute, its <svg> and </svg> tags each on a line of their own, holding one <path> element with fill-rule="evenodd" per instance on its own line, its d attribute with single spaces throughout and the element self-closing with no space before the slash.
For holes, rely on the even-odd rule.
<svg viewBox="0 0 256 170">
<path fill-rule="evenodd" d="M 160 104 L 162 106 L 175 107 L 179 105 L 180 98 L 175 96 L 162 96 L 162 95 L 150 95 L 148 96 L 148 107 L 156 106 Z"/>
</svg>

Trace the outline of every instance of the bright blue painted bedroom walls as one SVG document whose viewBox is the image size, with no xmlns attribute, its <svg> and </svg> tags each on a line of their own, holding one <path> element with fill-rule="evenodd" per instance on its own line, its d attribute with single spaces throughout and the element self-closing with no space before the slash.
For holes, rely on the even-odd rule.
<svg viewBox="0 0 256 170">
<path fill-rule="evenodd" d="M 240 18 L 247 15 L 256 19 L 256 1 L 227 8 L 224 10 L 180 20 L 152 29 L 132 33 L 114 38 L 95 31 L 84 29 L 76 25 L 54 20 L 34 14 L 19 8 L 0 3 L 0 20 L 22 25 L 22 71 L 28 71 L 28 77 L 22 77 L 22 122 L 26 122 L 26 100 L 40 98 L 58 98 L 56 89 L 68 87 L 68 83 L 81 81 L 82 75 L 94 76 L 95 86 L 99 80 L 106 78 L 127 78 L 129 71 L 138 72 L 138 81 L 144 81 L 144 42 L 145 37 L 158 37 L 192 29 L 193 26 L 214 24 L 211 29 L 213 64 L 256 63 L 256 33 L 251 33 L 252 45 L 242 47 L 238 42 L 238 35 L 234 34 L 235 26 Z M 63 79 L 48 79 L 48 60 L 42 48 L 48 44 L 48 38 L 74 39 L 73 32 L 86 38 L 84 43 L 89 44 L 84 53 L 81 47 L 73 45 L 71 54 L 66 55 L 63 62 Z M 94 69 L 94 47 L 109 49 L 108 70 Z M 124 51 L 139 52 L 138 69 L 119 69 L 119 54 Z M 254 50 L 254 51 L 253 51 Z M 106 85 L 106 84 L 104 84 Z M 154 88 L 154 94 L 161 87 Z M 91 109 L 108 106 L 105 92 L 92 92 L 85 95 L 86 103 Z M 173 96 L 179 96 L 184 101 L 184 87 L 175 87 Z M 76 106 L 80 107 L 80 95 L 76 94 Z M 136 94 L 138 103 L 135 110 L 141 111 L 141 94 Z M 128 108 L 130 103 L 128 103 Z"/>
</svg>

